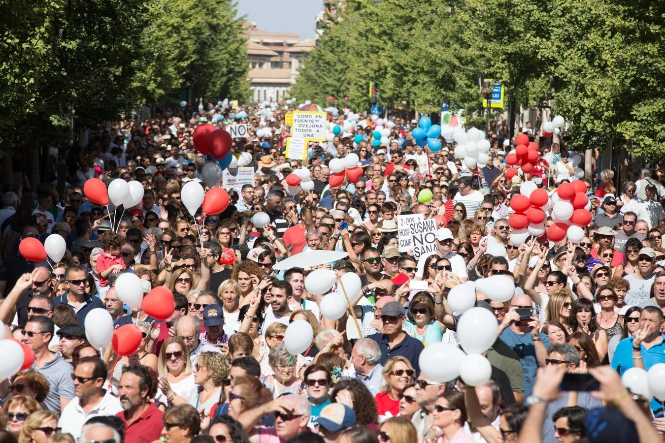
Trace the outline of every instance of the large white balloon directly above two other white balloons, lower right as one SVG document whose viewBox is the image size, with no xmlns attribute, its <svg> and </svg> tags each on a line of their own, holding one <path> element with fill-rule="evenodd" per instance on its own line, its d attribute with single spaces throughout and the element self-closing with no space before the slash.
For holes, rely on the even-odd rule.
<svg viewBox="0 0 665 443">
<path fill-rule="evenodd" d="M 489 294 L 485 294 L 489 297 Z M 458 321 L 458 340 L 469 354 L 481 354 L 497 339 L 497 319 L 485 308 L 471 308 Z"/>
</svg>

